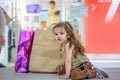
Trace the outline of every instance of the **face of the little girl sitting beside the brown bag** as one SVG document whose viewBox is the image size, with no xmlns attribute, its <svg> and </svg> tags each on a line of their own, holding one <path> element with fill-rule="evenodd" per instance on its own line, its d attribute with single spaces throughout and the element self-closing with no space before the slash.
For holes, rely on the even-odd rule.
<svg viewBox="0 0 120 80">
<path fill-rule="evenodd" d="M 54 29 L 55 39 L 58 43 L 64 44 L 67 41 L 67 32 L 63 27 L 58 27 Z"/>
</svg>

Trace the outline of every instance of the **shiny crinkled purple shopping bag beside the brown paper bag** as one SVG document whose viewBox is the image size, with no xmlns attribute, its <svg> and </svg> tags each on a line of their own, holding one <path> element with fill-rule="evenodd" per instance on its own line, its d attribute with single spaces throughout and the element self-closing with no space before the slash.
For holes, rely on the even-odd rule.
<svg viewBox="0 0 120 80">
<path fill-rule="evenodd" d="M 15 62 L 15 72 L 26 73 L 29 68 L 29 60 L 32 50 L 34 32 L 21 30 Z"/>
</svg>

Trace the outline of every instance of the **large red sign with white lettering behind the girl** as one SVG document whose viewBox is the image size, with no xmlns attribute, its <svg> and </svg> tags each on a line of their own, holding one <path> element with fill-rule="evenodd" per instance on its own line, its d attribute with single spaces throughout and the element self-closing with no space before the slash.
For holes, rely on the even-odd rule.
<svg viewBox="0 0 120 80">
<path fill-rule="evenodd" d="M 85 47 L 88 53 L 120 54 L 120 1 L 85 0 Z"/>
</svg>

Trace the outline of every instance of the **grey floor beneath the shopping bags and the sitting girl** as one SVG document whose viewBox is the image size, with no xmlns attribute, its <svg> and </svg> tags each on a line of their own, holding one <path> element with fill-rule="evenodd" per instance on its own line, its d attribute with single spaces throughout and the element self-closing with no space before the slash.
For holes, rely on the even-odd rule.
<svg viewBox="0 0 120 80">
<path fill-rule="evenodd" d="M 101 80 L 119 80 L 120 68 L 105 68 L 109 74 L 108 79 Z M 71 80 L 59 79 L 57 74 L 48 73 L 15 73 L 10 68 L 0 68 L 0 80 Z M 86 79 L 98 80 L 98 79 Z"/>
</svg>

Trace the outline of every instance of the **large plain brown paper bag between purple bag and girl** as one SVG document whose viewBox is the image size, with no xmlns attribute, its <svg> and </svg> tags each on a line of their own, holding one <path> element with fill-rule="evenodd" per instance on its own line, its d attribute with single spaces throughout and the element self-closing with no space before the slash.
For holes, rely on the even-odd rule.
<svg viewBox="0 0 120 80">
<path fill-rule="evenodd" d="M 56 72 L 59 65 L 59 44 L 51 30 L 37 29 L 34 36 L 29 71 Z"/>
</svg>

